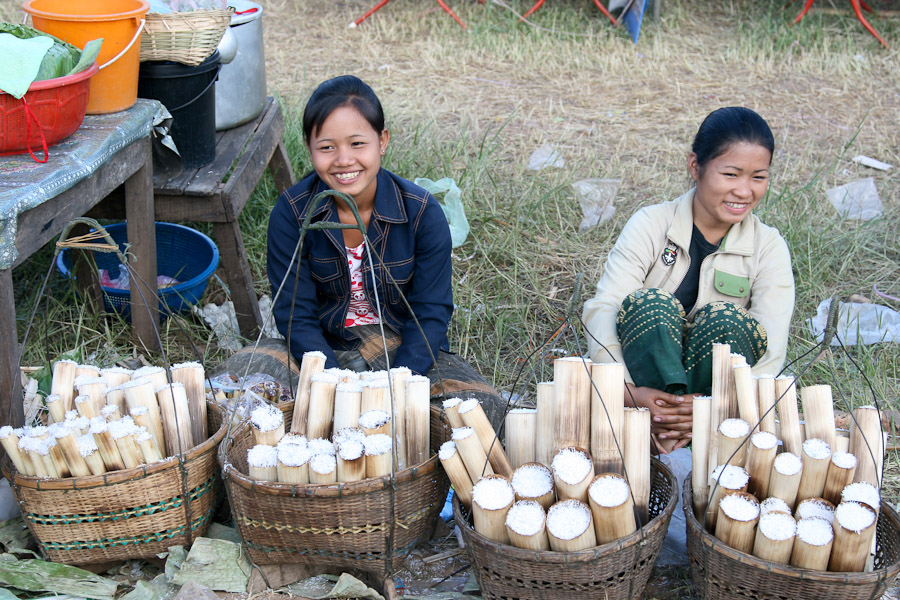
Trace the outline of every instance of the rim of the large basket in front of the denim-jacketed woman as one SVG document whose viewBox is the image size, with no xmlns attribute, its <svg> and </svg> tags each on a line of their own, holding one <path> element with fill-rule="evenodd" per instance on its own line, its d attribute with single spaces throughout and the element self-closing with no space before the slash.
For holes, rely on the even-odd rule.
<svg viewBox="0 0 900 600">
<path fill-rule="evenodd" d="M 282 402 L 277 405 L 282 411 L 293 409 L 293 403 Z M 434 405 L 431 406 L 431 418 L 440 419 L 440 422 L 449 427 L 450 423 L 444 411 Z M 228 421 L 226 418 L 225 422 Z M 381 477 L 369 477 L 360 481 L 347 481 L 338 483 L 283 483 L 279 481 L 261 481 L 245 475 L 235 467 L 230 459 L 230 452 L 234 448 L 234 438 L 243 434 L 250 427 L 249 418 L 243 419 L 232 431 L 231 435 L 222 442 L 219 448 L 219 467 L 222 469 L 222 479 L 234 481 L 237 485 L 254 493 L 270 496 L 307 497 L 307 498 L 341 498 L 357 494 L 368 494 L 384 489 L 392 485 L 406 483 L 421 477 L 430 475 L 437 469 L 438 455 L 432 455 L 428 460 L 418 465 L 407 467 L 391 475 Z"/>
</svg>

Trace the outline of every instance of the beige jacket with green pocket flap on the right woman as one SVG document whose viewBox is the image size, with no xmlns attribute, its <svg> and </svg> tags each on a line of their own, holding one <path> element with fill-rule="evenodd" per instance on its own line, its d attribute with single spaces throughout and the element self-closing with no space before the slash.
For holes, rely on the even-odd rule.
<svg viewBox="0 0 900 600">
<path fill-rule="evenodd" d="M 616 315 L 625 296 L 641 288 L 674 292 L 681 284 L 691 260 L 693 199 L 691 190 L 671 202 L 640 209 L 625 224 L 597 282 L 597 294 L 584 305 L 584 323 L 593 335 L 588 336 L 588 352 L 595 362 L 625 362 L 616 335 Z M 662 254 L 669 244 L 677 248 L 676 258 L 666 266 Z M 700 267 L 691 315 L 714 300 L 743 306 L 765 327 L 768 350 L 753 373 L 777 374 L 784 365 L 794 312 L 791 256 L 777 229 L 753 214 L 731 227 L 719 249 Z M 625 377 L 633 383 L 627 369 Z"/>
</svg>

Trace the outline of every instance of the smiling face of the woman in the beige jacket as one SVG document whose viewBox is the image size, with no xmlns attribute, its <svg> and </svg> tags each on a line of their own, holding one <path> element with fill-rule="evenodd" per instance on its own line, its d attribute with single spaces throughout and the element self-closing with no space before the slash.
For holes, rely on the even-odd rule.
<svg viewBox="0 0 900 600">
<path fill-rule="evenodd" d="M 768 148 L 735 142 L 703 168 L 697 155 L 688 158 L 688 170 L 697 183 L 694 224 L 707 241 L 719 243 L 735 223 L 750 216 L 769 187 Z"/>
</svg>

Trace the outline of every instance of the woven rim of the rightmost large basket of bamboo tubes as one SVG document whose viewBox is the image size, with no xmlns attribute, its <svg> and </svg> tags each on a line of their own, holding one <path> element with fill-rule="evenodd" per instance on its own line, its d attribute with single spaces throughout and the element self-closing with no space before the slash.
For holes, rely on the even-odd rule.
<svg viewBox="0 0 900 600">
<path fill-rule="evenodd" d="M 697 535 L 703 547 L 708 551 L 715 551 L 722 556 L 737 561 L 742 565 L 754 567 L 766 573 L 778 573 L 784 577 L 789 577 L 799 581 L 820 582 L 820 583 L 851 583 L 851 584 L 874 584 L 879 581 L 892 581 L 897 574 L 900 574 L 900 556 L 890 565 L 886 565 L 874 571 L 862 573 L 854 572 L 834 572 L 834 571 L 817 571 L 815 569 L 803 569 L 801 567 L 793 567 L 784 563 L 776 563 L 763 560 L 752 554 L 746 554 L 740 550 L 735 550 L 731 546 L 726 545 L 716 536 L 706 531 L 705 527 L 700 525 L 697 517 L 694 516 L 693 505 L 693 489 L 691 486 L 691 474 L 684 478 L 684 490 L 682 493 L 684 501 L 684 520 L 688 533 L 694 532 Z M 890 504 L 883 502 L 881 505 L 881 514 L 891 523 L 895 529 L 900 529 L 900 517 L 897 512 L 891 508 Z M 699 532 L 699 533 L 698 533 Z"/>
</svg>

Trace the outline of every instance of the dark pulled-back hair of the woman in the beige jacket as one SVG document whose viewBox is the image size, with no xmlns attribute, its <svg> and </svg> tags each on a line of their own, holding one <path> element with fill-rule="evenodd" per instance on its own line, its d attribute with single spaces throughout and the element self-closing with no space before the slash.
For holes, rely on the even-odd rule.
<svg viewBox="0 0 900 600">
<path fill-rule="evenodd" d="M 700 124 L 691 145 L 691 150 L 697 155 L 700 171 L 703 171 L 709 161 L 725 153 L 737 142 L 759 144 L 767 148 L 770 161 L 775 151 L 775 138 L 769 124 L 749 108 L 728 106 L 709 113 Z"/>
</svg>

